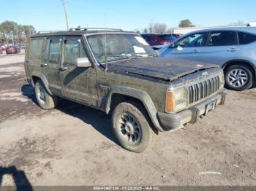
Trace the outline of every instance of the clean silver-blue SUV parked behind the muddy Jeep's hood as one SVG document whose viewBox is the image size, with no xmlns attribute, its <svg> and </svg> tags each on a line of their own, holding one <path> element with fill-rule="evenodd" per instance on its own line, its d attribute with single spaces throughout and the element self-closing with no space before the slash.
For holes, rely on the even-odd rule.
<svg viewBox="0 0 256 191">
<path fill-rule="evenodd" d="M 217 28 L 189 33 L 162 50 L 165 58 L 216 63 L 231 90 L 246 90 L 256 79 L 256 28 Z"/>
</svg>

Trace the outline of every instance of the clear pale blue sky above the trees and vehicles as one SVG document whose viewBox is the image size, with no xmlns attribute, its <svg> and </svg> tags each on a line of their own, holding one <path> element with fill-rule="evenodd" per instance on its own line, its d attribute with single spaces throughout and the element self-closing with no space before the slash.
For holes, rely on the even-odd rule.
<svg viewBox="0 0 256 191">
<path fill-rule="evenodd" d="M 64 30 L 61 0 L 0 0 L 0 23 L 31 24 L 37 31 Z M 189 18 L 197 26 L 222 26 L 256 20 L 255 0 L 69 0 L 71 27 L 108 27 L 133 31 L 153 20 L 176 27 Z"/>
</svg>

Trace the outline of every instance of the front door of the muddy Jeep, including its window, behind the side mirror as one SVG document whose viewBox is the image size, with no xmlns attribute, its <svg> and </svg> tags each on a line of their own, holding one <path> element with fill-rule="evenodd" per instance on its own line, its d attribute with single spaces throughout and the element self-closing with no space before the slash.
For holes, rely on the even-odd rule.
<svg viewBox="0 0 256 191">
<path fill-rule="evenodd" d="M 65 36 L 63 44 L 61 79 L 63 94 L 83 104 L 97 105 L 96 69 L 78 68 L 77 58 L 88 58 L 81 36 Z"/>
</svg>

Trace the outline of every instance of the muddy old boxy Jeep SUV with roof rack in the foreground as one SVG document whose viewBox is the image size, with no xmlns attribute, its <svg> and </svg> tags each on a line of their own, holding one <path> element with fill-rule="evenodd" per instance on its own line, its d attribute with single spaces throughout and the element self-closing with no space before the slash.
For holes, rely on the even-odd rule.
<svg viewBox="0 0 256 191">
<path fill-rule="evenodd" d="M 133 152 L 225 103 L 218 66 L 159 58 L 139 34 L 121 30 L 39 32 L 25 69 L 42 109 L 61 97 L 112 114 L 116 139 Z"/>
</svg>

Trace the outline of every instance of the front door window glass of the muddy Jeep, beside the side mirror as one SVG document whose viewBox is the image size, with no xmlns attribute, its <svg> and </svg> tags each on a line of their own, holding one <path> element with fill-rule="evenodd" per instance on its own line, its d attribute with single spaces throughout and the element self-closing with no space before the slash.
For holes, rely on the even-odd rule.
<svg viewBox="0 0 256 191">
<path fill-rule="evenodd" d="M 80 39 L 66 39 L 64 41 L 64 63 L 75 64 L 77 58 L 87 57 Z"/>
</svg>

